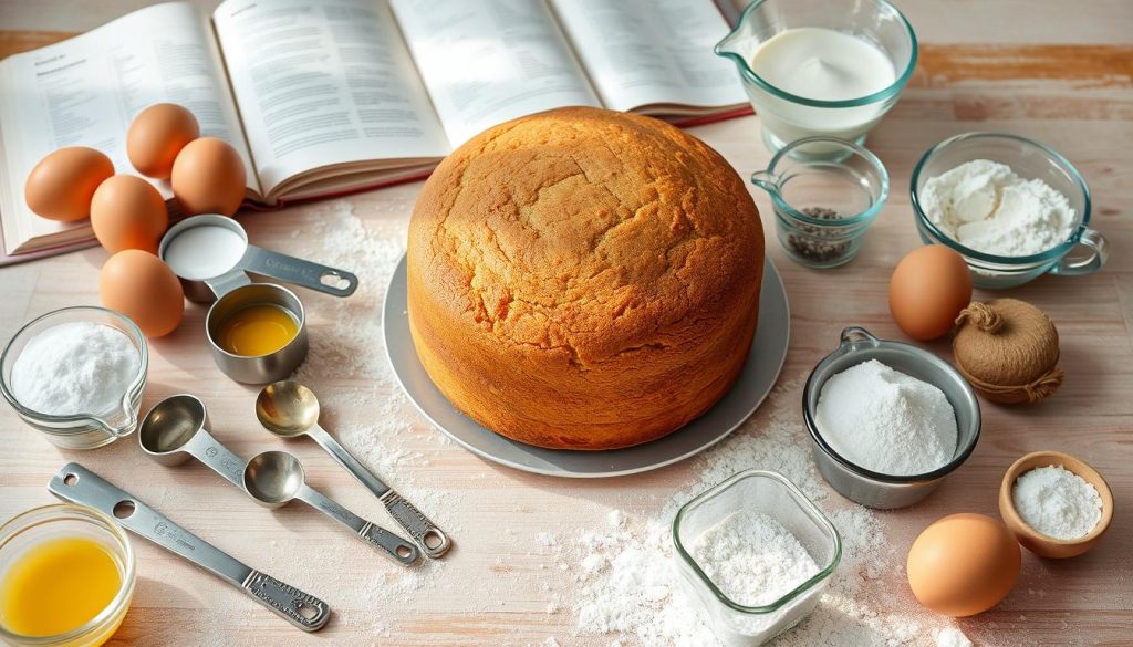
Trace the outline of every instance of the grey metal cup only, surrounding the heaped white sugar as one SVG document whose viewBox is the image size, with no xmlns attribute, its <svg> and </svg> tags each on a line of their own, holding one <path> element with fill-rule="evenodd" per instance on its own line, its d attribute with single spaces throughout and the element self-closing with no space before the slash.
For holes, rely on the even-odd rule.
<svg viewBox="0 0 1133 647">
<path fill-rule="evenodd" d="M 881 474 L 851 462 L 824 439 L 816 422 L 823 386 L 834 375 L 870 359 L 944 392 L 956 418 L 956 448 L 951 460 L 925 474 Z M 840 494 L 867 508 L 904 508 L 925 499 L 968 460 L 980 437 L 980 405 L 968 381 L 952 365 L 925 349 L 880 340 L 858 326 L 843 330 L 838 347 L 810 373 L 802 392 L 802 415 L 813 441 L 815 462 L 823 478 Z"/>
</svg>

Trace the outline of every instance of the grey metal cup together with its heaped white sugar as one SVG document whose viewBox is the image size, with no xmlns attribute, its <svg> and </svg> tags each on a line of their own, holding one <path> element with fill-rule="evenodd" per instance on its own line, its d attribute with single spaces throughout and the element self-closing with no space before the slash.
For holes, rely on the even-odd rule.
<svg viewBox="0 0 1133 647">
<path fill-rule="evenodd" d="M 803 418 L 815 462 L 843 496 L 911 505 L 971 454 L 980 408 L 947 361 L 852 326 L 807 381 Z"/>
</svg>

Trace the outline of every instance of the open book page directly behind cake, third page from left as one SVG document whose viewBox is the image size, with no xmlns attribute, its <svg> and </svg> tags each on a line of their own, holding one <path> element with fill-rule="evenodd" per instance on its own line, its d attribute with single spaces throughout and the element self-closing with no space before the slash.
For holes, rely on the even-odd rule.
<svg viewBox="0 0 1133 647">
<path fill-rule="evenodd" d="M 543 0 L 392 0 L 452 146 L 563 105 L 602 107 Z"/>
</svg>

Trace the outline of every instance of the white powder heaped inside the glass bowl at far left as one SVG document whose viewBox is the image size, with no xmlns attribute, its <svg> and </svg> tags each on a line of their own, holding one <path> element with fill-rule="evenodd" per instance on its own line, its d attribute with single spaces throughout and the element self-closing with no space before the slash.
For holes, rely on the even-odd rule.
<svg viewBox="0 0 1133 647">
<path fill-rule="evenodd" d="M 121 331 L 92 322 L 51 326 L 33 337 L 11 367 L 11 391 L 49 416 L 108 414 L 122 403 L 142 356 Z"/>
</svg>

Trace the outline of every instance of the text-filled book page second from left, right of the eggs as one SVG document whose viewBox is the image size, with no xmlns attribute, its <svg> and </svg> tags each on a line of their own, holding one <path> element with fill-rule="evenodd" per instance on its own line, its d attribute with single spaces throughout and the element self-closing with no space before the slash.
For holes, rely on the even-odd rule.
<svg viewBox="0 0 1133 647">
<path fill-rule="evenodd" d="M 269 194 L 324 167 L 449 153 L 384 0 L 229 0 L 213 23 Z"/>
</svg>

